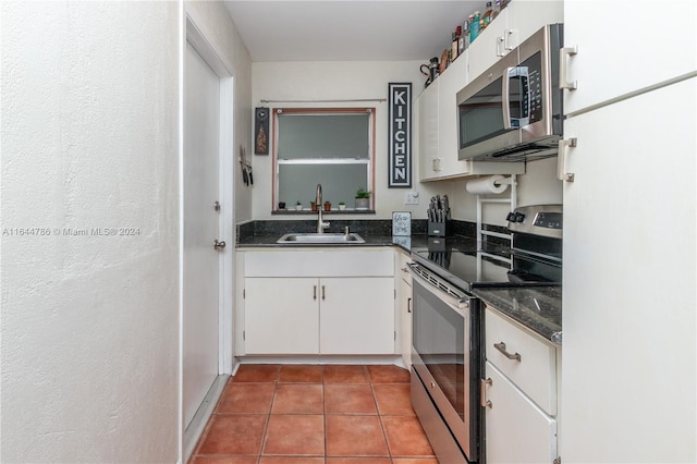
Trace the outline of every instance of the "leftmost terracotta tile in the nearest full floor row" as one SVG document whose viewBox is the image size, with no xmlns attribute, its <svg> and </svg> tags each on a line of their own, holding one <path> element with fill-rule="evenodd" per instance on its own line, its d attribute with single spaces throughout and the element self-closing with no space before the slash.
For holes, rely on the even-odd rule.
<svg viewBox="0 0 697 464">
<path fill-rule="evenodd" d="M 198 454 L 259 454 L 267 417 L 213 414 Z"/>
</svg>

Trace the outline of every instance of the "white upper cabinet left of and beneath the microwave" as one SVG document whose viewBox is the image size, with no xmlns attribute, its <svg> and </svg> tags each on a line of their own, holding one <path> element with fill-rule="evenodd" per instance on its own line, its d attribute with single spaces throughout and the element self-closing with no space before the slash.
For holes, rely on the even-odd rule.
<svg viewBox="0 0 697 464">
<path fill-rule="evenodd" d="M 466 54 L 460 56 L 417 99 L 421 182 L 480 174 L 522 174 L 524 163 L 457 159 L 456 95 L 467 83 Z"/>
</svg>

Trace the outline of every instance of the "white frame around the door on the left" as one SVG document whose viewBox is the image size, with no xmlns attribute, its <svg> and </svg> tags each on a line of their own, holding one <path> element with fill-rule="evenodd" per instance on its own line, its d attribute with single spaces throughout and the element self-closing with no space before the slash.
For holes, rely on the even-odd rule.
<svg viewBox="0 0 697 464">
<path fill-rule="evenodd" d="M 192 17 L 192 11 L 182 9 L 183 27 L 181 34 L 180 51 L 180 149 L 179 149 L 179 179 L 180 179 L 180 223 L 179 223 L 179 247 L 180 247 L 180 343 L 179 343 L 179 428 L 180 428 L 180 462 L 187 462 L 194 451 L 203 430 L 212 414 L 212 410 L 222 393 L 224 380 L 232 374 L 233 368 L 233 305 L 234 305 L 234 73 L 232 64 L 224 58 L 209 37 L 212 37 L 205 27 L 204 22 Z M 224 248 L 219 262 L 219 295 L 218 295 L 218 378 L 213 382 L 209 393 L 195 418 L 192 420 L 188 430 L 184 424 L 184 149 L 185 145 L 185 89 L 186 89 L 186 42 L 200 54 L 204 61 L 220 78 L 220 139 L 219 139 L 219 181 L 220 181 L 220 225 L 219 240 L 225 241 Z M 211 244 L 212 246 L 212 244 Z"/>
</svg>

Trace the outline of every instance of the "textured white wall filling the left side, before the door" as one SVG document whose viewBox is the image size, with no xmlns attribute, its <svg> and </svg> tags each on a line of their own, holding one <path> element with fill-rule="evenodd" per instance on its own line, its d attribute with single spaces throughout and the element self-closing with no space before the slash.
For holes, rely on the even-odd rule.
<svg viewBox="0 0 697 464">
<path fill-rule="evenodd" d="M 0 4 L 2 462 L 178 459 L 181 8 Z"/>
</svg>

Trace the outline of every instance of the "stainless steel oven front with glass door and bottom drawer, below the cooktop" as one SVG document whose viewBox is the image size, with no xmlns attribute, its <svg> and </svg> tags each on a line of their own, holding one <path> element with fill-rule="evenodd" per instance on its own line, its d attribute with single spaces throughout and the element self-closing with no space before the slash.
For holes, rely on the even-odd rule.
<svg viewBox="0 0 697 464">
<path fill-rule="evenodd" d="M 439 460 L 479 453 L 479 300 L 419 265 L 413 279 L 412 404 Z"/>
</svg>

